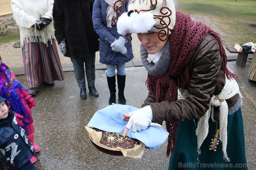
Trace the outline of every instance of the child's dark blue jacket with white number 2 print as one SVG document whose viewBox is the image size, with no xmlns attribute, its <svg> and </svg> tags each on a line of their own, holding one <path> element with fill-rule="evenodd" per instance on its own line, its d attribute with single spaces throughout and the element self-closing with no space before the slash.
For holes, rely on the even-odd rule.
<svg viewBox="0 0 256 170">
<path fill-rule="evenodd" d="M 34 147 L 25 135 L 25 130 L 18 125 L 14 115 L 14 111 L 9 111 L 8 117 L 0 120 L 0 151 L 6 157 L 12 170 L 19 169 L 35 154 Z M 12 167 L 10 159 L 15 146 L 18 148 L 13 159 L 15 167 Z"/>
</svg>

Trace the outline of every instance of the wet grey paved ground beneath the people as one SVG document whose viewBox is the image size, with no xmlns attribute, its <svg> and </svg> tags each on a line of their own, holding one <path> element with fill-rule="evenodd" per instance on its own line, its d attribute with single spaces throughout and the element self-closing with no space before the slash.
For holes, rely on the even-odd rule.
<svg viewBox="0 0 256 170">
<path fill-rule="evenodd" d="M 242 107 L 245 129 L 246 156 L 250 170 L 255 169 L 255 83 L 248 82 L 247 73 L 250 62 L 240 68 L 235 61 L 228 62 L 229 69 L 235 73 L 240 90 L 244 96 Z M 125 97 L 127 104 L 140 107 L 147 90 L 144 67 L 126 68 Z M 35 124 L 35 143 L 41 147 L 36 153 L 35 166 L 38 170 L 148 170 L 167 169 L 167 141 L 156 150 L 146 149 L 141 159 L 111 156 L 100 152 L 89 140 L 84 126 L 93 114 L 108 106 L 109 90 L 105 70 L 96 70 L 95 86 L 99 97 L 88 93 L 86 100 L 80 99 L 74 72 L 65 72 L 65 80 L 56 81 L 54 86 L 42 84 L 34 96 L 36 107 L 32 108 Z M 17 76 L 26 86 L 24 76 Z M 239 148 L 234 148 L 239 149 Z"/>
</svg>

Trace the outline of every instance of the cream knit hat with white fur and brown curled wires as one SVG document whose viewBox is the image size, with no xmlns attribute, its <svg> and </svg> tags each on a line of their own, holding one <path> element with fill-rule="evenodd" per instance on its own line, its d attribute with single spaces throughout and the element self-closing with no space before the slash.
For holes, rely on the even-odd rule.
<svg viewBox="0 0 256 170">
<path fill-rule="evenodd" d="M 173 0 L 130 0 L 128 11 L 117 21 L 118 33 L 147 33 L 148 31 L 171 34 L 175 25 Z"/>
</svg>

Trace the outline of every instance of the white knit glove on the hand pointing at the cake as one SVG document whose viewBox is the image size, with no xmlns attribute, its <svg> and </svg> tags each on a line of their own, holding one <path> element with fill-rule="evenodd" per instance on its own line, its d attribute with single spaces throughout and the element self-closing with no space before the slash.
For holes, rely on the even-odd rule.
<svg viewBox="0 0 256 170">
<path fill-rule="evenodd" d="M 145 106 L 144 108 L 130 112 L 129 117 L 130 119 L 126 125 L 128 129 L 132 127 L 131 130 L 133 132 L 145 130 L 153 120 L 152 109 L 149 105 Z"/>
</svg>

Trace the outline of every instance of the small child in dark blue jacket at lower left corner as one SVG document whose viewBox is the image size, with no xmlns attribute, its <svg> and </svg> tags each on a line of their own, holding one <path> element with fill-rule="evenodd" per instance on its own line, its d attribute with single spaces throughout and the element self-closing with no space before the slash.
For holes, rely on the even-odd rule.
<svg viewBox="0 0 256 170">
<path fill-rule="evenodd" d="M 25 130 L 19 126 L 14 111 L 9 111 L 6 99 L 0 97 L 0 151 L 11 170 L 37 170 L 30 162 L 35 154 Z"/>
</svg>

